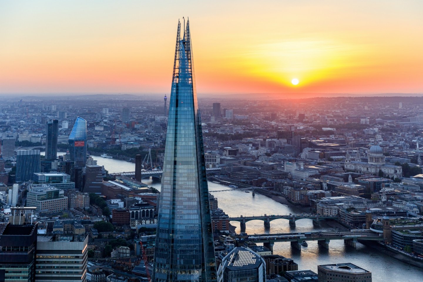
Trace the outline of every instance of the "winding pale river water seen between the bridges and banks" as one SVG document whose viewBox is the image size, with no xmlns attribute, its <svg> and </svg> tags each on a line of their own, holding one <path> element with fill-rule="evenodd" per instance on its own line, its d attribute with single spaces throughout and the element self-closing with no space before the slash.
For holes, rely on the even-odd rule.
<svg viewBox="0 0 423 282">
<path fill-rule="evenodd" d="M 135 171 L 135 164 L 116 159 L 105 159 L 99 156 L 92 156 L 99 165 L 109 172 L 131 172 Z M 160 190 L 160 182 L 155 178 L 143 179 L 148 186 Z M 295 213 L 295 208 L 277 203 L 276 201 L 261 194 L 245 193 L 243 191 L 231 190 L 225 192 L 213 192 L 218 190 L 228 190 L 228 186 L 209 182 L 209 192 L 217 197 L 219 208 L 222 208 L 229 216 L 252 216 L 262 214 L 289 214 Z M 239 222 L 231 222 L 236 226 L 239 233 Z M 288 220 L 276 219 L 270 222 L 270 228 L 264 228 L 263 221 L 255 220 L 247 222 L 246 232 L 254 233 L 288 233 L 307 232 L 316 230 L 333 230 L 332 227 L 322 225 L 321 228 L 313 227 L 311 219 L 300 219 L 296 222 L 296 227 L 291 228 Z M 422 281 L 423 269 L 409 266 L 390 256 L 379 253 L 376 249 L 357 243 L 357 248 L 345 246 L 343 240 L 330 241 L 329 250 L 322 249 L 317 245 L 317 241 L 308 241 L 308 246 L 302 246 L 302 250 L 292 249 L 289 243 L 275 243 L 274 254 L 284 257 L 291 257 L 298 263 L 299 270 L 311 269 L 317 273 L 317 265 L 331 263 L 354 263 L 357 266 L 372 272 L 374 282 L 408 282 Z"/>
</svg>

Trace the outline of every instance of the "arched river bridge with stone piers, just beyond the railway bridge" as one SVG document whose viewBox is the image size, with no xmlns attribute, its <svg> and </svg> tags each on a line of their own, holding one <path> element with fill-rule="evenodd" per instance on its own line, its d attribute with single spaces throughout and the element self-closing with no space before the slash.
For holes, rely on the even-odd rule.
<svg viewBox="0 0 423 282">
<path fill-rule="evenodd" d="M 275 219 L 288 219 L 289 225 L 295 226 L 295 222 L 299 219 L 313 219 L 313 225 L 319 226 L 321 220 L 338 220 L 338 216 L 321 216 L 321 215 L 303 215 L 303 214 L 288 214 L 288 215 L 263 215 L 263 216 L 239 216 L 230 217 L 229 221 L 241 222 L 241 230 L 245 230 L 245 223 L 251 220 L 263 220 L 265 227 L 270 227 L 270 222 Z"/>
</svg>

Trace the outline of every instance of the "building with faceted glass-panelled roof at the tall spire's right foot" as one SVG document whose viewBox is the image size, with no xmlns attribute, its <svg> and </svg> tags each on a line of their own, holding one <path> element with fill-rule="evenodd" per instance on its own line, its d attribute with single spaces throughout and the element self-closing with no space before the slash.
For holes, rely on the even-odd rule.
<svg viewBox="0 0 423 282">
<path fill-rule="evenodd" d="M 217 271 L 218 282 L 266 282 L 266 263 L 251 249 L 236 247 Z"/>
</svg>

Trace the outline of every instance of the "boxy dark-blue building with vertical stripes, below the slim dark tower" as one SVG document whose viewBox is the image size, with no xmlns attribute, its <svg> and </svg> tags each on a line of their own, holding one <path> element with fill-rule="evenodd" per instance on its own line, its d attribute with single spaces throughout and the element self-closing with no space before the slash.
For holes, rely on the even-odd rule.
<svg viewBox="0 0 423 282">
<path fill-rule="evenodd" d="M 34 172 L 41 172 L 40 150 L 16 151 L 16 182 L 32 180 Z"/>
</svg>

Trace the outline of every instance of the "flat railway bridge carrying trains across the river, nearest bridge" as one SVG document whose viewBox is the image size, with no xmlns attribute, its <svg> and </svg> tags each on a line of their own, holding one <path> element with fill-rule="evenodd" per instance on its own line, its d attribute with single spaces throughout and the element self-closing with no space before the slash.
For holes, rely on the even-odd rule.
<svg viewBox="0 0 423 282">
<path fill-rule="evenodd" d="M 282 233 L 282 234 L 254 234 L 241 236 L 245 241 L 253 241 L 254 243 L 263 243 L 273 252 L 275 242 L 291 242 L 291 246 L 301 249 L 303 241 L 317 241 L 319 246 L 326 249 L 329 248 L 331 240 L 344 240 L 348 246 L 356 247 L 357 241 L 384 241 L 382 234 L 364 230 L 349 230 L 337 232 L 305 232 L 305 233 Z"/>
</svg>

